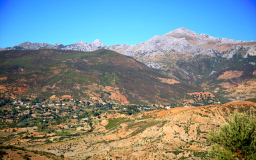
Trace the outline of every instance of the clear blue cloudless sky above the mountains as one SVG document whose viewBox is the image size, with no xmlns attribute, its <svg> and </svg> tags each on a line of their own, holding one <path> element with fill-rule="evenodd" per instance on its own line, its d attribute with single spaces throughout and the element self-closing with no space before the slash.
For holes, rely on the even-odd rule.
<svg viewBox="0 0 256 160">
<path fill-rule="evenodd" d="M 1 0 L 0 47 L 19 43 L 136 44 L 179 27 L 256 40 L 255 0 Z"/>
</svg>

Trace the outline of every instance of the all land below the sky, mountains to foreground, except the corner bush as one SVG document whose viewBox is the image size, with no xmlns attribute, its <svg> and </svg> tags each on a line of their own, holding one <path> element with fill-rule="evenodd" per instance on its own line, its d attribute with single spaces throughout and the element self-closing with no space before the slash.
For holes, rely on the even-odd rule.
<svg viewBox="0 0 256 160">
<path fill-rule="evenodd" d="M 0 51 L 0 159 L 208 159 L 256 111 L 256 42 L 185 28 L 136 45 Z"/>
</svg>

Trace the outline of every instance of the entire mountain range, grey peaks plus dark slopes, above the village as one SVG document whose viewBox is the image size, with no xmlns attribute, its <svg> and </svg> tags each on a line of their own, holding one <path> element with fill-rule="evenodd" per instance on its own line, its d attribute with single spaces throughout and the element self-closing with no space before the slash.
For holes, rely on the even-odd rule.
<svg viewBox="0 0 256 160">
<path fill-rule="evenodd" d="M 25 42 L 0 54 L 1 97 L 72 94 L 123 104 L 207 105 L 256 94 L 256 41 L 185 28 L 137 45 Z"/>
</svg>

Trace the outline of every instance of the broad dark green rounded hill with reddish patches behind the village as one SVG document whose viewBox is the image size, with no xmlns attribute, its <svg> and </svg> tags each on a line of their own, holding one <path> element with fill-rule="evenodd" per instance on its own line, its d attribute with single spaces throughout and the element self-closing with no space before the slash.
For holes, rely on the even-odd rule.
<svg viewBox="0 0 256 160">
<path fill-rule="evenodd" d="M 100 49 L 1 51 L 1 97 L 61 98 L 100 103 L 178 105 L 196 85 L 172 79 L 131 57 Z M 218 99 L 213 99 L 219 101 Z"/>
</svg>

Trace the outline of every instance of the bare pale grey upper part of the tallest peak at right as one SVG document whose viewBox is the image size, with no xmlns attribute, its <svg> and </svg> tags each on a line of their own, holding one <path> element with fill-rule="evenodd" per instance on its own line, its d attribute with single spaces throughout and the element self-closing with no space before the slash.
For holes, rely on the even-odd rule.
<svg viewBox="0 0 256 160">
<path fill-rule="evenodd" d="M 235 41 L 233 39 L 215 38 L 207 34 L 197 34 L 185 28 L 170 31 L 165 35 L 156 35 L 148 41 L 138 45 L 112 47 L 120 53 L 129 56 L 158 55 L 162 52 L 172 51 L 178 53 L 192 53 L 232 58 L 238 51 L 244 50 L 244 57 L 256 55 L 256 41 Z"/>
</svg>

